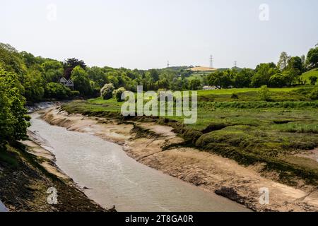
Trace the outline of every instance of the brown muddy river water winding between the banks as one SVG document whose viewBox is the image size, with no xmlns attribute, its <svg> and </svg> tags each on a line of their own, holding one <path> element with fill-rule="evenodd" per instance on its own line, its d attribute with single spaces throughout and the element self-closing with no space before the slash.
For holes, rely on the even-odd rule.
<svg viewBox="0 0 318 226">
<path fill-rule="evenodd" d="M 239 204 L 165 175 L 128 157 L 121 146 L 67 131 L 32 114 L 34 131 L 57 165 L 86 195 L 118 211 L 247 211 Z"/>
</svg>

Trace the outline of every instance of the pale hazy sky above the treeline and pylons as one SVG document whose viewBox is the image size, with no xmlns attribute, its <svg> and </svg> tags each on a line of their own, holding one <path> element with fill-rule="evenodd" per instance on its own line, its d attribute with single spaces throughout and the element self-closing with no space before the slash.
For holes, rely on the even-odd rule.
<svg viewBox="0 0 318 226">
<path fill-rule="evenodd" d="M 88 66 L 254 68 L 318 43 L 317 0 L 0 0 L 0 42 Z"/>
</svg>

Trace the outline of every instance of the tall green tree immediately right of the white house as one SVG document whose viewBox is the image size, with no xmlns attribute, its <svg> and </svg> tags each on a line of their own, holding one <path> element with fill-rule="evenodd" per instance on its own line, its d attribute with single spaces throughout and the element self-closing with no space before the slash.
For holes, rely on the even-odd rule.
<svg viewBox="0 0 318 226">
<path fill-rule="evenodd" d="M 88 96 L 92 94 L 92 88 L 90 86 L 90 80 L 88 73 L 81 66 L 76 66 L 71 72 L 71 80 L 74 83 L 74 89 L 82 96 Z"/>
</svg>

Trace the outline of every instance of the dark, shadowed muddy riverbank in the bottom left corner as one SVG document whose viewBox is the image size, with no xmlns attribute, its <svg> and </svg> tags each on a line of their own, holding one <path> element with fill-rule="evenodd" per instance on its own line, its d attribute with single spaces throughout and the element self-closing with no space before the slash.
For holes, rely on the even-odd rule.
<svg viewBox="0 0 318 226">
<path fill-rule="evenodd" d="M 30 147 L 20 143 L 15 147 L 8 146 L 6 152 L 11 161 L 0 162 L 0 197 L 9 211 L 107 211 L 89 199 L 69 177 L 59 172 L 54 164 L 51 165 L 49 160 L 34 155 L 40 152 L 40 147 L 35 143 L 28 144 Z M 44 167 L 46 164 L 50 165 L 51 170 Z M 48 193 L 49 188 L 56 189 L 57 203 L 48 201 L 52 194 Z"/>
</svg>

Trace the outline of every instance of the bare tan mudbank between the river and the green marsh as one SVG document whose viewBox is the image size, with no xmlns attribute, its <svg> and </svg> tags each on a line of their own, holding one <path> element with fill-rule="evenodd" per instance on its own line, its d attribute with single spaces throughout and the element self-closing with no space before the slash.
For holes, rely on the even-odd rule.
<svg viewBox="0 0 318 226">
<path fill-rule="evenodd" d="M 50 124 L 71 131 L 90 133 L 107 141 L 119 143 L 127 155 L 184 182 L 227 196 L 258 211 L 317 211 L 318 191 L 310 186 L 296 189 L 261 177 L 259 167 L 242 167 L 233 160 L 194 148 L 163 146 L 182 142 L 169 126 L 154 123 L 83 117 L 58 108 L 47 109 L 42 118 Z M 275 177 L 273 174 L 272 177 Z M 259 203 L 259 189 L 269 189 L 269 204 Z M 311 192 L 314 191 L 314 192 Z"/>
</svg>

